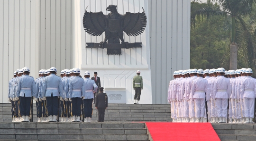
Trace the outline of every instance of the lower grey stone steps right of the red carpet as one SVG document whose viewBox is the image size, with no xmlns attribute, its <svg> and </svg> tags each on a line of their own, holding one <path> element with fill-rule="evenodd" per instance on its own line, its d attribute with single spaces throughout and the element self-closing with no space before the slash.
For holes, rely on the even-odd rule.
<svg viewBox="0 0 256 141">
<path fill-rule="evenodd" d="M 212 124 L 221 141 L 256 141 L 256 124 Z"/>
</svg>

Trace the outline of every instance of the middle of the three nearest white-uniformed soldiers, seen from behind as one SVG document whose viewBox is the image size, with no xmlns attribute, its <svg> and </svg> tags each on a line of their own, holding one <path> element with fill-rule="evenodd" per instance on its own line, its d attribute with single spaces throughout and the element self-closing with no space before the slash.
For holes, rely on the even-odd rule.
<svg viewBox="0 0 256 141">
<path fill-rule="evenodd" d="M 225 78 L 225 69 L 219 68 L 219 78 L 214 82 L 213 97 L 216 100 L 219 123 L 226 123 L 228 117 L 228 99 L 231 95 L 231 86 Z"/>
</svg>

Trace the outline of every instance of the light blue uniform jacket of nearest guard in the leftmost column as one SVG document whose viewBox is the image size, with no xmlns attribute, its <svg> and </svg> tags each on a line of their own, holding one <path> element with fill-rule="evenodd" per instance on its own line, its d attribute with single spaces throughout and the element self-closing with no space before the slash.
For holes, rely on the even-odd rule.
<svg viewBox="0 0 256 141">
<path fill-rule="evenodd" d="M 37 96 L 35 80 L 29 75 L 22 75 L 18 79 L 17 96 L 24 97 L 24 94 L 25 97 Z"/>
</svg>

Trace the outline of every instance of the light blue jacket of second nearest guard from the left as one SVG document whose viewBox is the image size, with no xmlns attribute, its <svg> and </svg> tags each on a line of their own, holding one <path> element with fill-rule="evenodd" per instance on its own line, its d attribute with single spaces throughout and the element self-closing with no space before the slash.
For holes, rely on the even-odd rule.
<svg viewBox="0 0 256 141">
<path fill-rule="evenodd" d="M 45 77 L 43 82 L 43 97 L 63 97 L 63 84 L 61 78 L 55 74 Z"/>
</svg>

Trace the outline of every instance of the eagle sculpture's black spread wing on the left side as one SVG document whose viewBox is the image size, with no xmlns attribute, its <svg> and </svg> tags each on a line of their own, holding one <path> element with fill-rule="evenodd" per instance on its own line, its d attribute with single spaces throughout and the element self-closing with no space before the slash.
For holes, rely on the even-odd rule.
<svg viewBox="0 0 256 141">
<path fill-rule="evenodd" d="M 100 36 L 107 27 L 107 15 L 101 12 L 84 12 L 83 15 L 83 29 L 92 36 Z"/>
</svg>

